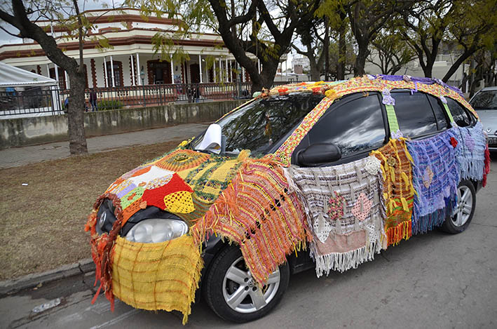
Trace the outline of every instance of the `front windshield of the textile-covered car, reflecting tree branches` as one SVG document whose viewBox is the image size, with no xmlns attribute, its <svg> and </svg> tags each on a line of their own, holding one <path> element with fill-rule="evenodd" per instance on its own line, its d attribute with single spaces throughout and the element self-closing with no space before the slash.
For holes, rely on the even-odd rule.
<svg viewBox="0 0 497 329">
<path fill-rule="evenodd" d="M 271 148 L 324 98 L 313 93 L 292 93 L 261 98 L 217 121 L 221 126 L 226 154 L 250 149 L 253 156 Z M 203 135 L 193 140 L 196 149 Z"/>
</svg>

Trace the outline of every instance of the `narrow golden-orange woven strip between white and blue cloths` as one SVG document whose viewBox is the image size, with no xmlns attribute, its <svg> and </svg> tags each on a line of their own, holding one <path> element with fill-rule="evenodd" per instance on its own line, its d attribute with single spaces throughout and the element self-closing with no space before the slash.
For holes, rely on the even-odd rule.
<svg viewBox="0 0 497 329">
<path fill-rule="evenodd" d="M 381 161 L 383 198 L 386 203 L 385 232 L 387 245 L 411 237 L 411 216 L 414 201 L 411 156 L 404 138 L 390 140 L 385 146 L 371 152 Z"/>
</svg>

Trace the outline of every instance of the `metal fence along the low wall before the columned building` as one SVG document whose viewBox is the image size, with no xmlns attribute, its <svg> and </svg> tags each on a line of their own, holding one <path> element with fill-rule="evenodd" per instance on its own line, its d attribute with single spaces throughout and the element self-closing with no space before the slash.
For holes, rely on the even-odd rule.
<svg viewBox="0 0 497 329">
<path fill-rule="evenodd" d="M 274 86 L 285 82 L 274 83 Z M 70 90 L 56 87 L 0 92 L 0 117 L 62 114 Z M 252 83 L 176 83 L 145 86 L 95 88 L 97 110 L 165 105 L 170 102 L 208 102 L 244 99 L 252 96 Z M 90 92 L 85 92 L 85 109 L 91 111 Z"/>
</svg>

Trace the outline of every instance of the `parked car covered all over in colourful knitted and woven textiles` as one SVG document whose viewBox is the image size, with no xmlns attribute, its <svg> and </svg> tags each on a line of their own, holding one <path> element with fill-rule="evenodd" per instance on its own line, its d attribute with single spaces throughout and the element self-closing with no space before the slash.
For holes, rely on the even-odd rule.
<svg viewBox="0 0 497 329">
<path fill-rule="evenodd" d="M 86 230 L 98 292 L 184 323 L 204 297 L 252 321 L 291 274 L 354 269 L 435 227 L 465 231 L 489 161 L 476 112 L 437 79 L 264 89 L 97 199 Z"/>
</svg>

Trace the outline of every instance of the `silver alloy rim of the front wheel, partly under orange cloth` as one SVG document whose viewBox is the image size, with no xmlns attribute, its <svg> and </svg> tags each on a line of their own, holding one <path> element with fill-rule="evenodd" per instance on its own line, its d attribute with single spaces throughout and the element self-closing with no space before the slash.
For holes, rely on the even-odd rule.
<svg viewBox="0 0 497 329">
<path fill-rule="evenodd" d="M 243 257 L 238 257 L 229 267 L 223 279 L 223 297 L 231 309 L 240 313 L 252 313 L 266 307 L 275 297 L 280 286 L 280 269 L 276 268 L 268 277 L 262 291 L 245 270 Z"/>
</svg>

